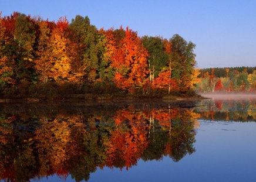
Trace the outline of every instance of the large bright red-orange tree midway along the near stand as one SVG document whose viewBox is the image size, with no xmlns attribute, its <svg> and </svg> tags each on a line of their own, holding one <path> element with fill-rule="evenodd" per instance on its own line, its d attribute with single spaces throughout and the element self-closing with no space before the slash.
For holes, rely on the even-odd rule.
<svg viewBox="0 0 256 182">
<path fill-rule="evenodd" d="M 114 68 L 114 82 L 117 87 L 133 92 L 146 83 L 149 53 L 136 32 L 126 28 L 124 33 L 125 36 L 117 47 L 110 66 Z"/>
</svg>

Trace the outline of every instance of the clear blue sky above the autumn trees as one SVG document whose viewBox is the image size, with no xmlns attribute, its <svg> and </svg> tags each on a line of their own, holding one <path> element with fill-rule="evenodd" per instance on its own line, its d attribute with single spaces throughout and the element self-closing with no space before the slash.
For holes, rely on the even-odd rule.
<svg viewBox="0 0 256 182">
<path fill-rule="evenodd" d="M 139 36 L 177 33 L 196 44 L 199 68 L 256 66 L 255 0 L 0 0 L 0 11 L 49 20 L 89 16 L 97 28 L 129 26 Z"/>
</svg>

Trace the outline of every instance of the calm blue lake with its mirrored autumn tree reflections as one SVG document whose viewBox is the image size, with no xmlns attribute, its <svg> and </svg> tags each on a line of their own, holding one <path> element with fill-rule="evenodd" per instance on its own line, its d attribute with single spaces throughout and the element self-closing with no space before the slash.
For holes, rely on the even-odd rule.
<svg viewBox="0 0 256 182">
<path fill-rule="evenodd" d="M 1 181 L 255 181 L 256 99 L 0 105 Z"/>
</svg>

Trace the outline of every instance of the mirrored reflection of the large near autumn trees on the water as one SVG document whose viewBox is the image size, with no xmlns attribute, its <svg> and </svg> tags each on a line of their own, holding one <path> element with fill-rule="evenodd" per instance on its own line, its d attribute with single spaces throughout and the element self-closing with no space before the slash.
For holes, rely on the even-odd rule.
<svg viewBox="0 0 256 182">
<path fill-rule="evenodd" d="M 76 114 L 0 117 L 0 178 L 29 181 L 56 174 L 88 180 L 97 167 L 129 169 L 139 159 L 175 162 L 195 151 L 200 115 L 191 109 L 123 107 Z"/>
</svg>

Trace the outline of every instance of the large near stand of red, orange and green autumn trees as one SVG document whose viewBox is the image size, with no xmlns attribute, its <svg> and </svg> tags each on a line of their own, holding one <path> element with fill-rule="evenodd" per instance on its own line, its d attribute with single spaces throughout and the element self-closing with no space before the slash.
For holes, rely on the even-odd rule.
<svg viewBox="0 0 256 182">
<path fill-rule="evenodd" d="M 195 44 L 97 29 L 89 18 L 57 22 L 14 12 L 0 16 L 2 95 L 193 93 Z"/>
</svg>

